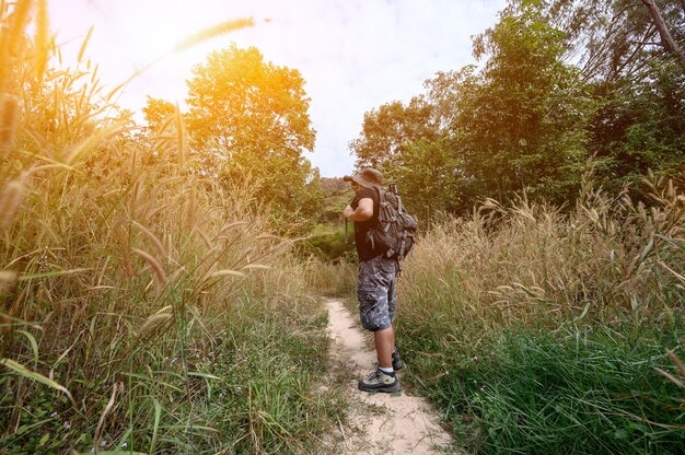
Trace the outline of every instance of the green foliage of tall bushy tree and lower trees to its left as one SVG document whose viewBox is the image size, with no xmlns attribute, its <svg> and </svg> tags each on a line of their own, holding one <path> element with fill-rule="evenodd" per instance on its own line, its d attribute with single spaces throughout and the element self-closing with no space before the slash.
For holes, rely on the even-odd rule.
<svg viewBox="0 0 685 455">
<path fill-rule="evenodd" d="M 564 36 L 535 2 L 503 15 L 475 40 L 476 56 L 488 55 L 479 72 L 441 72 L 427 96 L 364 116 L 350 145 L 357 165 L 378 165 L 428 220 L 521 191 L 566 201 L 585 161 L 592 103 L 580 71 L 562 61 Z"/>
</svg>

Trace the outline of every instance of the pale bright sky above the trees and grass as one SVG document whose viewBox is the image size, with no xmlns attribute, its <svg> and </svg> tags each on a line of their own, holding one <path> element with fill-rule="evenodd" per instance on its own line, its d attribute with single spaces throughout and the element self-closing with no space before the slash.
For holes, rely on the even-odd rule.
<svg viewBox="0 0 685 455">
<path fill-rule="evenodd" d="M 147 95 L 185 109 L 186 80 L 212 50 L 255 46 L 265 61 L 297 69 L 311 98 L 316 130 L 304 156 L 324 177 L 349 174 L 348 143 L 363 115 L 423 93 L 438 71 L 475 62 L 473 35 L 494 26 L 506 0 L 51 0 L 50 27 L 62 65 L 76 62 L 94 26 L 85 57 L 101 83 L 114 89 L 137 71 L 117 100 L 143 125 Z M 255 26 L 224 34 L 183 52 L 183 38 L 221 22 L 253 18 Z M 162 57 L 160 59 L 160 57 Z"/>
</svg>

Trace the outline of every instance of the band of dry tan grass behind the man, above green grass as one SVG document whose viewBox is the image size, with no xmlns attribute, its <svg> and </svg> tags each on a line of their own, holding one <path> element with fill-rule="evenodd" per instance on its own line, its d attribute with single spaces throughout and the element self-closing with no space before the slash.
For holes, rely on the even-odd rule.
<svg viewBox="0 0 685 455">
<path fill-rule="evenodd" d="M 650 208 L 627 194 L 609 198 L 587 178 L 570 213 L 490 200 L 445 223 L 405 267 L 400 295 L 413 302 L 405 312 L 449 312 L 448 319 L 486 326 L 672 314 L 682 302 L 664 289 L 682 291 L 684 197 L 654 177 L 645 185 Z"/>
</svg>

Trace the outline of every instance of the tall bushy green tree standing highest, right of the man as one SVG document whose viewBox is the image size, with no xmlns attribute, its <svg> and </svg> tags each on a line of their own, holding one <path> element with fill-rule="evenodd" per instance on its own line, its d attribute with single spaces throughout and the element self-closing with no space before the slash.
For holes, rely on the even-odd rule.
<svg viewBox="0 0 685 455">
<path fill-rule="evenodd" d="M 480 74 L 465 79 L 457 147 L 475 192 L 510 199 L 564 202 L 585 161 L 585 120 L 592 106 L 580 72 L 564 62 L 565 34 L 523 1 L 474 42 L 489 58 Z"/>
</svg>

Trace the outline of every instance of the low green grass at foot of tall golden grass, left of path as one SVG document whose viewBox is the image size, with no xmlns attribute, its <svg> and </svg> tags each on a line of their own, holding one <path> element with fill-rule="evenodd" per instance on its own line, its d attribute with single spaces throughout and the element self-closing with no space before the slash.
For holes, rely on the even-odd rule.
<svg viewBox="0 0 685 455">
<path fill-rule="evenodd" d="M 241 299 L 225 314 L 204 322 L 212 337 L 190 329 L 185 345 L 170 336 L 143 348 L 137 359 L 143 361 L 117 375 L 121 392 L 103 425 L 102 450 L 311 452 L 340 418 L 344 405 L 335 389 L 317 392 L 327 357 L 325 312 L 311 300 L 300 306 L 295 312 L 292 305 Z M 56 378 L 65 374 L 58 372 Z M 95 409 L 88 413 L 19 376 L 3 374 L 0 383 L 0 423 L 7 434 L 0 440 L 2 453 L 90 451 L 106 401 L 96 397 L 112 392 L 107 377 L 71 377 L 74 395 L 94 401 Z M 15 415 L 12 392 L 18 387 L 25 392 Z M 18 431 L 11 431 L 18 421 Z"/>
</svg>

